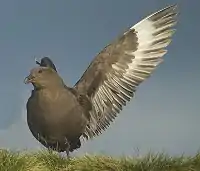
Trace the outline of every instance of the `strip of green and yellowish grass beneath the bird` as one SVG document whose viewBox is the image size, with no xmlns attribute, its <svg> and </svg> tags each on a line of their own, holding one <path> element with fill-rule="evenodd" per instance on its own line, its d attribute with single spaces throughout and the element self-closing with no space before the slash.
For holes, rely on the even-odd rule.
<svg viewBox="0 0 200 171">
<path fill-rule="evenodd" d="M 0 171 L 199 171 L 200 153 L 193 157 L 148 154 L 143 158 L 85 155 L 70 159 L 52 151 L 0 150 Z"/>
</svg>

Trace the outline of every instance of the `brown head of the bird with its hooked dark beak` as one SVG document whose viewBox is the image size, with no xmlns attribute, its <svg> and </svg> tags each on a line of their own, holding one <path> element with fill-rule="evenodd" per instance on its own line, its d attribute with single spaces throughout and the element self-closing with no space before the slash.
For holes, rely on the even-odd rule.
<svg viewBox="0 0 200 171">
<path fill-rule="evenodd" d="M 29 76 L 24 79 L 24 83 L 32 83 L 36 88 L 48 88 L 63 85 L 63 80 L 54 69 L 39 66 L 31 69 Z"/>
</svg>

